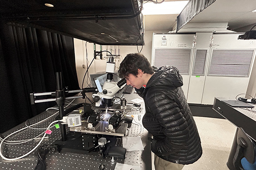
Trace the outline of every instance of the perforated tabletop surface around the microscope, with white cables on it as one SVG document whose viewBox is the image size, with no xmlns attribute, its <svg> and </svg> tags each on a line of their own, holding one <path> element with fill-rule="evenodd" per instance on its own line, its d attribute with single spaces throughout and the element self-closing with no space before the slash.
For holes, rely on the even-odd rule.
<svg viewBox="0 0 256 170">
<path fill-rule="evenodd" d="M 134 91 L 134 89 L 133 89 Z M 122 94 L 123 95 L 123 94 Z M 128 102 L 131 102 L 132 99 L 141 97 L 138 96 L 138 94 L 124 94 L 124 97 L 127 99 Z M 143 99 L 142 99 L 143 100 Z M 74 103 L 80 103 L 81 99 L 76 99 Z M 83 102 L 83 101 L 82 101 Z M 128 165 L 134 165 L 138 166 L 138 169 L 140 170 L 151 170 L 151 147 L 150 142 L 147 140 L 149 137 L 149 133 L 146 129 L 144 129 L 141 119 L 145 113 L 144 110 L 144 102 L 141 103 L 141 107 L 143 108 L 142 112 L 140 111 L 132 111 L 128 114 L 132 114 L 134 116 L 133 123 L 131 125 L 131 130 L 129 131 L 128 136 L 140 136 L 144 150 L 143 151 L 130 151 L 126 152 L 126 157 L 124 160 L 124 164 Z M 34 124 L 36 122 L 39 122 L 47 117 L 50 117 L 54 114 L 50 119 L 47 121 L 44 121 L 40 123 L 39 125 L 34 126 L 34 128 L 42 128 L 47 127 L 50 122 L 53 122 L 55 120 L 55 117 L 57 114 L 55 114 L 57 110 L 50 109 L 48 111 L 43 112 L 42 114 L 37 115 L 36 117 L 33 117 L 32 119 L 29 119 L 27 124 Z M 135 122 L 134 122 L 135 121 Z M 140 125 L 141 126 L 140 126 Z M 17 127 L 10 129 L 8 132 L 5 132 L 3 136 L 7 136 L 8 134 L 21 129 L 23 127 L 26 127 L 25 123 L 18 125 Z M 41 145 L 51 145 L 54 141 L 61 139 L 60 129 L 56 129 L 55 127 L 51 128 L 52 134 L 48 135 L 48 139 L 44 139 Z M 68 130 L 68 128 L 67 128 Z M 13 137 L 9 138 L 8 140 L 24 140 L 24 139 L 30 139 L 37 134 L 40 134 L 44 132 L 43 129 L 26 129 L 22 132 L 19 132 L 15 134 Z M 26 154 L 31 149 L 34 148 L 34 146 L 37 145 L 39 140 L 32 140 L 30 142 L 26 142 L 24 144 L 19 145 L 3 145 L 3 155 L 10 158 L 19 157 L 21 155 Z M 0 157 L 0 169 L 10 169 L 10 170 L 17 170 L 17 169 L 34 169 L 34 167 L 37 164 L 37 156 L 36 151 L 34 153 L 30 154 L 29 156 L 26 156 L 20 160 L 15 161 L 6 161 L 3 160 L 3 158 Z M 46 157 L 46 165 L 47 170 L 71 170 L 71 169 L 82 169 L 82 170 L 98 170 L 99 165 L 104 164 L 105 170 L 114 170 L 115 169 L 115 163 L 112 163 L 110 161 L 109 157 L 105 157 L 104 159 L 100 159 L 98 156 L 94 155 L 84 155 L 84 154 L 77 154 L 77 153 L 54 153 L 53 151 L 49 151 Z M 117 161 L 118 162 L 118 161 Z"/>
</svg>

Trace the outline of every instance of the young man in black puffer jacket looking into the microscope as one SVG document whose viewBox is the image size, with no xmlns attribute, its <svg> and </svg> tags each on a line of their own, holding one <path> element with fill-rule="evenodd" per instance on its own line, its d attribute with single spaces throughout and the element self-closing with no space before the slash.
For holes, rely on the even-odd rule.
<svg viewBox="0 0 256 170">
<path fill-rule="evenodd" d="M 154 73 L 145 56 L 131 53 L 120 63 L 118 73 L 144 99 L 142 123 L 153 135 L 149 140 L 155 169 L 181 170 L 196 162 L 202 155 L 201 141 L 178 69 L 163 66 Z"/>
</svg>

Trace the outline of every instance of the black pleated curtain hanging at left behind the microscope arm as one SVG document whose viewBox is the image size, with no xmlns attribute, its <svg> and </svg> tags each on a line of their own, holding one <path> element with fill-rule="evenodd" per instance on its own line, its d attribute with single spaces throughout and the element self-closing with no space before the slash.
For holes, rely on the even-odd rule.
<svg viewBox="0 0 256 170">
<path fill-rule="evenodd" d="M 44 112 L 55 102 L 31 105 L 30 93 L 79 89 L 73 38 L 0 21 L 0 133 Z"/>
</svg>

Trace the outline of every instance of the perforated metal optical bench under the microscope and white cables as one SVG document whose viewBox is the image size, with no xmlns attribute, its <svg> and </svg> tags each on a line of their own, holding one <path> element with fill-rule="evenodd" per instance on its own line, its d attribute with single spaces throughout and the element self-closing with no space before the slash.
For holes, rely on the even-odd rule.
<svg viewBox="0 0 256 170">
<path fill-rule="evenodd" d="M 57 152 L 57 148 L 53 150 L 49 150 L 48 153 L 45 156 L 45 164 L 47 170 L 99 170 L 104 169 L 105 170 L 115 170 L 116 165 L 125 165 L 125 168 L 134 169 L 134 170 L 151 170 L 152 169 L 152 161 L 151 161 L 151 146 L 150 142 L 148 140 L 148 137 L 151 137 L 150 134 L 147 132 L 147 130 L 142 125 L 142 117 L 145 113 L 145 106 L 143 99 L 138 96 L 138 94 L 134 93 L 134 89 L 132 94 L 122 94 L 121 92 L 117 94 L 119 97 L 125 97 L 128 103 L 131 103 L 133 99 L 140 101 L 141 103 L 141 109 L 133 109 L 131 112 L 128 112 L 128 116 L 133 117 L 133 122 L 128 126 L 128 131 L 125 137 L 140 137 L 141 142 L 143 145 L 144 150 L 135 150 L 135 151 L 126 151 L 125 159 L 117 158 L 115 162 L 112 162 L 111 157 L 108 155 L 105 155 L 104 158 L 100 158 L 95 152 L 88 153 L 84 150 L 72 151 L 72 150 L 60 150 L 60 152 Z M 88 100 L 87 100 L 88 101 Z M 71 102 L 71 100 L 65 101 L 65 106 L 67 106 Z M 72 104 L 79 104 L 81 102 L 84 102 L 84 99 L 75 99 Z M 72 104 L 70 104 L 71 107 Z M 67 107 L 67 108 L 68 108 Z M 65 108 L 65 109 L 67 109 Z M 79 113 L 81 112 L 79 108 L 71 113 Z M 80 110 L 80 111 L 79 111 Z M 7 140 L 26 140 L 31 139 L 34 137 L 37 137 L 39 134 L 44 133 L 45 129 L 48 127 L 48 125 L 56 120 L 58 113 L 56 109 L 48 109 L 47 111 L 44 111 L 41 114 L 38 114 L 37 116 L 29 119 L 26 121 L 26 123 L 22 123 L 18 126 L 16 126 L 13 129 L 8 130 L 7 132 L 1 134 L 1 137 L 4 138 L 8 136 L 8 134 L 12 132 L 16 132 L 19 129 L 22 129 L 26 127 L 27 125 L 31 125 L 34 123 L 37 123 L 43 119 L 49 118 L 46 121 L 37 124 L 33 126 L 33 129 L 27 128 L 24 129 L 21 132 L 18 132 L 14 134 L 13 136 L 9 137 Z M 73 127 L 72 127 L 73 128 Z M 68 139 L 72 140 L 72 137 L 75 139 L 76 135 L 81 132 L 73 132 L 76 131 L 73 128 L 73 131 L 66 126 L 66 132 Z M 55 124 L 52 125 L 50 128 L 51 132 L 46 135 L 47 138 L 43 140 L 43 142 L 40 144 L 42 145 L 48 145 L 48 146 L 55 146 L 53 145 L 56 143 L 56 141 L 61 141 L 61 132 L 60 128 Z M 89 134 L 89 133 L 88 133 Z M 104 134 L 107 135 L 107 134 Z M 42 137 L 42 135 L 40 136 Z M 38 142 L 41 140 L 40 137 L 37 137 L 37 139 L 18 144 L 18 145 L 6 145 L 3 144 L 1 147 L 3 155 L 8 158 L 16 158 L 20 157 L 30 150 L 32 150 Z M 124 137 L 119 137 L 124 138 Z M 72 142 L 73 145 L 79 145 L 75 140 Z M 134 145 L 136 143 L 131 143 L 131 145 Z M 130 145 L 130 144 L 129 144 Z M 38 147 L 37 147 L 38 149 Z M 18 159 L 18 160 L 4 160 L 2 157 L 0 157 L 0 169 L 8 169 L 8 170 L 21 170 L 21 169 L 34 169 L 37 165 L 38 156 L 37 156 L 37 149 L 34 150 L 31 154 L 27 155 L 24 158 Z M 130 168 L 131 166 L 132 168 Z M 124 167 L 122 167 L 124 168 Z"/>
</svg>

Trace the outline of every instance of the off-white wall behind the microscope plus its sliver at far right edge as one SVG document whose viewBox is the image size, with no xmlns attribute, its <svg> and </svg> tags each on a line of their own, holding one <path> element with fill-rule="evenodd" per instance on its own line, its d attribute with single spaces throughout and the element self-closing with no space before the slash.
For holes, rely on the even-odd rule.
<svg viewBox="0 0 256 170">
<path fill-rule="evenodd" d="M 151 63 L 151 57 L 152 57 L 152 36 L 153 33 L 167 33 L 167 30 L 146 30 L 145 32 L 145 46 L 143 46 L 143 49 L 141 51 L 146 58 L 148 58 L 149 62 Z M 76 55 L 76 71 L 78 76 L 78 82 L 80 88 L 82 87 L 82 81 L 84 78 L 84 74 L 86 72 L 86 48 L 85 48 L 86 41 L 82 41 L 79 39 L 74 38 L 74 45 L 75 45 L 75 55 Z M 118 54 L 118 46 L 103 46 L 102 50 L 108 50 L 110 48 L 115 49 L 116 48 L 116 54 Z M 128 53 L 137 53 L 137 47 L 136 46 L 120 46 L 120 55 L 124 58 Z M 138 46 L 138 49 L 141 49 L 141 46 Z M 97 45 L 97 51 L 99 51 L 99 46 Z M 113 54 L 114 52 L 111 51 Z M 89 63 L 91 63 L 93 58 L 93 43 L 87 43 L 87 53 L 88 53 L 88 60 Z M 106 56 L 106 53 L 103 53 L 103 56 Z M 120 61 L 121 62 L 121 61 Z M 119 63 L 120 63 L 119 62 Z M 82 67 L 82 65 L 85 65 L 85 68 Z M 89 74 L 93 74 L 96 72 L 105 71 L 106 69 L 106 60 L 100 60 L 96 59 L 93 61 L 90 69 Z M 118 69 L 117 69 L 118 70 Z M 84 86 L 87 86 L 87 76 L 85 78 Z M 89 83 L 89 81 L 88 81 Z M 251 96 L 254 96 L 256 94 L 256 64 L 253 65 L 251 78 L 248 84 L 247 94 L 250 94 Z"/>
</svg>

